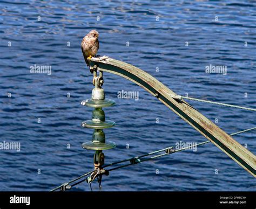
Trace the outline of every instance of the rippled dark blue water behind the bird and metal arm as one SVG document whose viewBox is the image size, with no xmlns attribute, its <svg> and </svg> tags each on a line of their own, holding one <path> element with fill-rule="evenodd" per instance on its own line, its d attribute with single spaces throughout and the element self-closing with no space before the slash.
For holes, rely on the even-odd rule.
<svg viewBox="0 0 256 209">
<path fill-rule="evenodd" d="M 80 105 L 93 88 L 80 50 L 91 29 L 99 31 L 98 54 L 143 69 L 177 94 L 256 108 L 255 6 L 250 1 L 1 1 L 0 142 L 21 142 L 21 151 L 0 150 L 0 190 L 49 191 L 93 169 L 93 151 L 81 147 L 92 130 L 80 126 L 92 112 Z M 51 75 L 32 74 L 31 65 L 49 65 Z M 209 65 L 227 66 L 227 74 L 206 73 Z M 104 152 L 106 163 L 179 141 L 205 141 L 144 89 L 113 74 L 105 73 L 104 80 L 106 97 L 117 102 L 104 109 L 117 123 L 105 130 L 107 140 L 117 143 Z M 122 89 L 138 91 L 139 100 L 118 99 Z M 188 102 L 229 134 L 255 126 L 253 112 Z M 255 154 L 255 134 L 234 138 Z M 98 190 L 97 183 L 92 187 Z M 90 191 L 87 183 L 74 189 Z M 103 177 L 103 191 L 227 190 L 255 191 L 255 179 L 211 143 Z"/>
</svg>

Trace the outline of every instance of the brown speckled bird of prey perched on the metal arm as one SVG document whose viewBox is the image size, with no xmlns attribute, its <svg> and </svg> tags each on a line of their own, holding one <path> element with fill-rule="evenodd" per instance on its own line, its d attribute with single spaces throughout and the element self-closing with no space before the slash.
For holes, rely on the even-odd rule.
<svg viewBox="0 0 256 209">
<path fill-rule="evenodd" d="M 91 57 L 94 57 L 99 50 L 98 37 L 98 31 L 91 30 L 82 40 L 81 48 L 87 66 L 89 66 L 89 61 L 87 60 L 87 58 L 91 59 Z"/>
</svg>

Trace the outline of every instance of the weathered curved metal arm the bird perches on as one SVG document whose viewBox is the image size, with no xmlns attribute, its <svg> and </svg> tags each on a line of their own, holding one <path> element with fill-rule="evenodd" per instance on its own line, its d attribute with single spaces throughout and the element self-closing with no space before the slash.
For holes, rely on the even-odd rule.
<svg viewBox="0 0 256 209">
<path fill-rule="evenodd" d="M 241 165 L 242 168 L 256 177 L 256 157 L 252 152 L 245 149 L 241 144 L 225 133 L 225 131 L 216 126 L 187 102 L 178 99 L 176 93 L 172 92 L 171 89 L 149 73 L 133 65 L 106 56 L 92 58 L 90 60 L 90 66 L 97 66 L 100 71 L 120 75 L 140 87 L 143 87 L 147 92 L 156 96 L 164 105 L 169 107 L 174 113 L 179 115 L 184 121 L 210 140 L 220 150 L 225 152 L 226 155 L 230 156 L 235 162 Z"/>
</svg>

